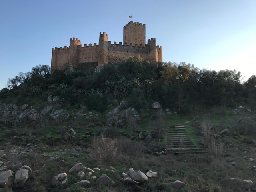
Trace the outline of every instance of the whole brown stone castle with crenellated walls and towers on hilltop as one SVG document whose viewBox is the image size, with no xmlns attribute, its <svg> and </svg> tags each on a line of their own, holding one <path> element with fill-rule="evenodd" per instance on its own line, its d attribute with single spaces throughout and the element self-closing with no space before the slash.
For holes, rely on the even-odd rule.
<svg viewBox="0 0 256 192">
<path fill-rule="evenodd" d="M 99 44 L 84 44 L 77 38 L 70 38 L 70 46 L 52 48 L 52 71 L 77 68 L 88 64 L 103 66 L 110 61 L 118 62 L 130 56 L 143 60 L 162 62 L 162 46 L 156 46 L 156 39 L 145 42 L 146 25 L 130 21 L 124 26 L 123 44 L 112 44 L 108 35 L 100 32 Z"/>
</svg>

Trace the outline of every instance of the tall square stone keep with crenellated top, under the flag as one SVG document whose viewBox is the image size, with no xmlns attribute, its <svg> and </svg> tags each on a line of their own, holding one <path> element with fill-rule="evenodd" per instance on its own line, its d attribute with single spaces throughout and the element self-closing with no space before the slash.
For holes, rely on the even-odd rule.
<svg viewBox="0 0 256 192">
<path fill-rule="evenodd" d="M 124 26 L 124 44 L 132 45 L 142 44 L 145 45 L 146 25 L 142 23 L 136 23 L 130 21 L 126 26 Z"/>
</svg>

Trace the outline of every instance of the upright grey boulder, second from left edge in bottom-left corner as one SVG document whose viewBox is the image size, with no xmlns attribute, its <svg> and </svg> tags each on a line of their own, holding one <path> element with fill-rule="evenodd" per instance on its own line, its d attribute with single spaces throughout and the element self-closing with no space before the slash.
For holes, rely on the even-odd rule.
<svg viewBox="0 0 256 192">
<path fill-rule="evenodd" d="M 22 168 L 20 168 L 20 170 L 18 170 L 15 174 L 14 186 L 22 188 L 30 177 L 31 172 L 32 170 L 29 166 L 22 166 Z"/>
</svg>

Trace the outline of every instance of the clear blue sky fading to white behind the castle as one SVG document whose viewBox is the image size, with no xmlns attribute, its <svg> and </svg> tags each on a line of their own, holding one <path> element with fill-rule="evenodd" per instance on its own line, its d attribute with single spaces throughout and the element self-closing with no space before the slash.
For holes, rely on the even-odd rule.
<svg viewBox="0 0 256 192">
<path fill-rule="evenodd" d="M 8 78 L 51 64 L 52 48 L 71 37 L 97 43 L 106 32 L 123 41 L 123 26 L 146 24 L 164 62 L 256 74 L 256 0 L 1 0 L 0 88 Z"/>
</svg>

